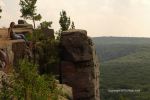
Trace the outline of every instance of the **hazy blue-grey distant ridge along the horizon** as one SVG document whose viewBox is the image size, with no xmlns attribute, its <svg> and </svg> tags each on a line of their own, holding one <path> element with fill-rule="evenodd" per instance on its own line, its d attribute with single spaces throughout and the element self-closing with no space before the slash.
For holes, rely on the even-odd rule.
<svg viewBox="0 0 150 100">
<path fill-rule="evenodd" d="M 94 37 L 93 42 L 102 62 L 139 52 L 150 46 L 150 38 L 143 37 Z"/>
</svg>

